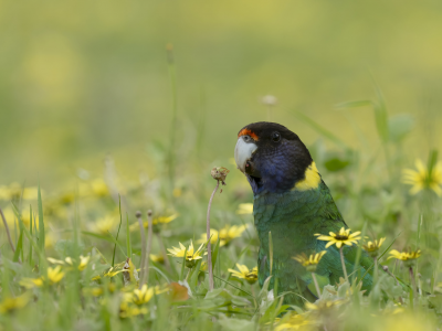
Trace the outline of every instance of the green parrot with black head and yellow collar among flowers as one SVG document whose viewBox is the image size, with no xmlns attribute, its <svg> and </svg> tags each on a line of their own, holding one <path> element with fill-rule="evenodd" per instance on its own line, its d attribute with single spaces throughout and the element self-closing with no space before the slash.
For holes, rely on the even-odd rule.
<svg viewBox="0 0 442 331">
<path fill-rule="evenodd" d="M 339 284 L 339 278 L 344 278 L 340 252 L 335 245 L 326 248 L 327 242 L 319 241 L 315 234 L 336 234 L 348 226 L 308 149 L 286 127 L 260 121 L 239 131 L 234 159 L 253 191 L 253 217 L 260 241 L 260 286 L 272 276 L 269 289 L 277 287 L 277 292 L 286 292 L 285 303 L 316 301 L 318 293 L 312 273 L 293 257 L 326 250 L 315 277 L 322 287 Z M 344 246 L 345 266 L 350 275 L 358 247 Z M 372 265 L 373 259 L 362 250 L 357 275 L 365 275 L 361 289 L 366 292 L 373 277 L 372 268 L 366 271 Z"/>
</svg>

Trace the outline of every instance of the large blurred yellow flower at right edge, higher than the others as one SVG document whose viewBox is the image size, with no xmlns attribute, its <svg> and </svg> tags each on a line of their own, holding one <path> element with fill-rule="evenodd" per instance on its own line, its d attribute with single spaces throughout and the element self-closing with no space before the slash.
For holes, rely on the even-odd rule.
<svg viewBox="0 0 442 331">
<path fill-rule="evenodd" d="M 415 168 L 402 170 L 402 183 L 412 185 L 410 189 L 411 194 L 417 194 L 422 190 L 433 190 L 439 196 L 442 195 L 442 161 L 439 161 L 431 171 L 429 177 L 428 169 L 423 166 L 421 160 L 415 160 Z"/>
</svg>

